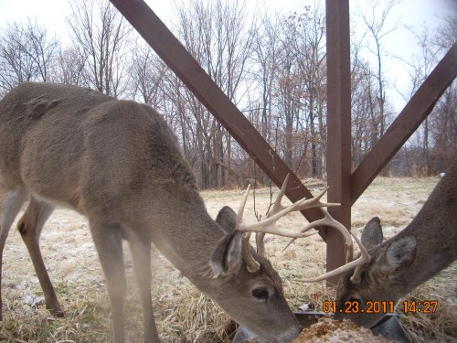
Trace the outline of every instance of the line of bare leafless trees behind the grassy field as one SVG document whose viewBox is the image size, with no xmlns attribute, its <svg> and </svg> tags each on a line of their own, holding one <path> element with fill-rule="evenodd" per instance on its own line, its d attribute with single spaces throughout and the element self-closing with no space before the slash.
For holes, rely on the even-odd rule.
<svg viewBox="0 0 457 343">
<path fill-rule="evenodd" d="M 164 113 L 174 128 L 201 188 L 242 185 L 247 178 L 268 181 L 109 1 L 69 4 L 63 41 L 33 18 L 1 29 L 0 96 L 34 80 L 76 84 L 145 102 Z M 367 34 L 352 38 L 354 168 L 397 114 L 386 92 L 382 50 L 392 30 L 385 21 L 396 4 L 377 3 L 382 16 L 360 14 Z M 436 35 L 426 29 L 416 35 L 422 50 L 409 65 L 411 94 L 454 43 L 454 19 L 443 20 Z M 241 1 L 182 1 L 168 26 L 299 177 L 325 177 L 325 155 L 331 147 L 326 145 L 323 7 L 306 6 L 284 16 L 250 13 Z M 377 47 L 372 49 L 374 64 L 363 58 L 367 41 Z M 385 173 L 428 176 L 445 170 L 457 156 L 456 112 L 454 82 Z"/>
</svg>

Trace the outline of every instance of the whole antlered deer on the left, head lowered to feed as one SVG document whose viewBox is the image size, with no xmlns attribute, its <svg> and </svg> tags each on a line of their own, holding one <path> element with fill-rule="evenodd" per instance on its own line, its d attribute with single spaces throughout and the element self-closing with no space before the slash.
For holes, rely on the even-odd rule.
<svg viewBox="0 0 457 343">
<path fill-rule="evenodd" d="M 259 252 L 262 241 L 257 251 L 250 245 L 250 233 L 304 237 L 279 230 L 275 223 L 294 210 L 317 207 L 328 213 L 324 208 L 332 204 L 321 203 L 322 194 L 282 205 L 285 181 L 268 218 L 246 223 L 248 188 L 236 219 L 221 210 L 213 220 L 161 114 L 145 104 L 77 86 L 18 85 L 0 100 L 0 137 L 0 268 L 8 232 L 28 199 L 17 229 L 52 314 L 64 316 L 64 311 L 43 262 L 39 236 L 53 209 L 64 206 L 89 221 L 112 309 L 114 343 L 125 341 L 123 240 L 132 252 L 144 342 L 160 342 L 151 295 L 153 242 L 199 291 L 262 342 L 284 343 L 298 336 L 301 327 L 284 298 L 282 279 Z M 352 249 L 342 224 L 326 215 L 316 225 L 339 230 Z"/>
</svg>

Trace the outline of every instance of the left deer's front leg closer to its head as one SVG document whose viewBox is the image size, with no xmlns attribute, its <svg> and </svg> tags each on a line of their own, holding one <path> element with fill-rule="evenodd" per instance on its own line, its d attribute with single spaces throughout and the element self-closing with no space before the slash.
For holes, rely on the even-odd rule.
<svg viewBox="0 0 457 343">
<path fill-rule="evenodd" d="M 133 258 L 133 271 L 140 290 L 143 307 L 144 343 L 159 343 L 155 327 L 153 299 L 151 297 L 151 243 L 129 241 Z"/>
</svg>

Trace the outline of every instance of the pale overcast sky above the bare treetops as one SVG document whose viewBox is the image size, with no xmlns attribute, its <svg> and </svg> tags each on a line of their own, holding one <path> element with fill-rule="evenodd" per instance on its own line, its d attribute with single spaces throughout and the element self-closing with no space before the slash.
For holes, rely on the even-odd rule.
<svg viewBox="0 0 457 343">
<path fill-rule="evenodd" d="M 246 2 L 250 8 L 258 2 L 265 3 L 260 6 L 261 10 L 282 13 L 294 10 L 300 12 L 303 5 L 310 3 L 309 0 L 246 0 Z M 146 0 L 146 3 L 165 24 L 170 22 L 173 0 Z M 351 0 L 351 11 L 366 3 L 366 0 Z M 402 3 L 395 7 L 389 16 L 388 26 L 399 23 L 401 27 L 383 41 L 385 53 L 388 55 L 386 71 L 391 84 L 396 84 L 401 89 L 408 83 L 405 66 L 392 57 L 411 59 L 413 53 L 417 52 L 416 42 L 405 27 L 419 30 L 425 23 L 432 31 L 440 25 L 442 16 L 449 15 L 452 10 L 457 11 L 457 0 L 402 0 Z M 0 0 L 0 26 L 5 25 L 6 22 L 25 20 L 29 16 L 37 17 L 39 22 L 48 27 L 49 32 L 56 32 L 58 38 L 64 39 L 67 35 L 65 17 L 69 16 L 69 12 L 68 0 Z M 356 27 L 358 24 L 360 23 L 357 23 L 353 16 L 351 26 Z M 398 102 L 401 109 L 404 103 Z"/>
</svg>

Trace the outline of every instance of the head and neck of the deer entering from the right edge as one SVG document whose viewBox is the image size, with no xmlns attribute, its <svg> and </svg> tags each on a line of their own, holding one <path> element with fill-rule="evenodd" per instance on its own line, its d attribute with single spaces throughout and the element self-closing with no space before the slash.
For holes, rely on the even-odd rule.
<svg viewBox="0 0 457 343">
<path fill-rule="evenodd" d="M 367 223 L 362 243 L 371 262 L 361 268 L 358 282 L 345 273 L 338 284 L 336 317 L 349 318 L 373 327 L 383 316 L 358 313 L 340 314 L 346 301 L 356 301 L 367 309 L 367 302 L 393 302 L 429 280 L 457 258 L 457 161 L 441 178 L 418 215 L 399 234 L 383 241 L 379 219 Z"/>
</svg>

